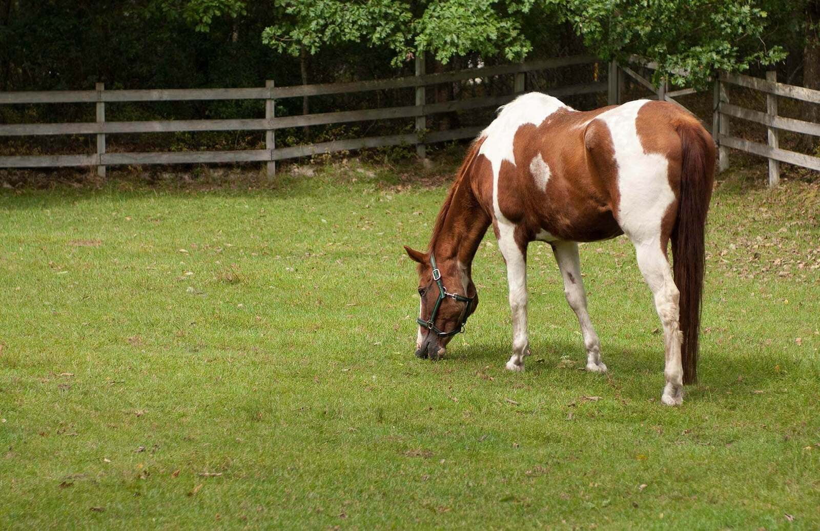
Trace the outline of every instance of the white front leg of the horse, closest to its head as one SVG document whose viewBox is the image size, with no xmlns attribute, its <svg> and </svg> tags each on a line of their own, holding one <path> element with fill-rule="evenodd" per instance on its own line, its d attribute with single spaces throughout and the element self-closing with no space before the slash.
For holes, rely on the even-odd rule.
<svg viewBox="0 0 820 531">
<path fill-rule="evenodd" d="M 526 243 L 519 245 L 513 227 L 499 224 L 499 249 L 507 263 L 510 310 L 512 311 L 512 357 L 507 362 L 511 371 L 524 370 L 524 357 L 530 354 L 526 333 Z"/>
</svg>

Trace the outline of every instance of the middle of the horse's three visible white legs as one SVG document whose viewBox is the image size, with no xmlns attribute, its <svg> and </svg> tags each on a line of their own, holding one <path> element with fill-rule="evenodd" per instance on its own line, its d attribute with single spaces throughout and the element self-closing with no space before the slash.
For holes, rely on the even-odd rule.
<svg viewBox="0 0 820 531">
<path fill-rule="evenodd" d="M 607 366 L 601 361 L 601 342 L 592 326 L 590 314 L 586 311 L 586 294 L 584 281 L 581 279 L 581 259 L 578 257 L 578 244 L 564 241 L 553 244 L 553 254 L 564 282 L 564 295 L 567 296 L 572 311 L 581 324 L 586 347 L 586 370 L 593 373 L 605 373 Z"/>
</svg>

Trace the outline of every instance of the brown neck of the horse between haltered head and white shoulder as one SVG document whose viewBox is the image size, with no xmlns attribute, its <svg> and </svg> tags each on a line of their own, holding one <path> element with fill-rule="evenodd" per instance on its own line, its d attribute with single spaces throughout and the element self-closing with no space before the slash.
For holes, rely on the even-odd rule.
<svg viewBox="0 0 820 531">
<path fill-rule="evenodd" d="M 440 235 L 432 242 L 436 259 L 455 258 L 469 270 L 487 227 L 490 217 L 473 195 L 469 179 L 465 179 L 453 195 Z"/>
</svg>

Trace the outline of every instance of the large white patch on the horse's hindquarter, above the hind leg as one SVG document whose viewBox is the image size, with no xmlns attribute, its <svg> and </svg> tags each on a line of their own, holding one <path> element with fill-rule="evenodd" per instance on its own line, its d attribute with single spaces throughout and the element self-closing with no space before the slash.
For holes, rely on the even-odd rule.
<svg viewBox="0 0 820 531">
<path fill-rule="evenodd" d="M 675 200 L 669 185 L 669 161 L 660 153 L 645 153 L 636 120 L 648 99 L 624 103 L 596 120 L 604 121 L 613 139 L 617 163 L 617 185 L 621 195 L 615 218 L 633 241 L 658 237 L 661 221 Z"/>
</svg>

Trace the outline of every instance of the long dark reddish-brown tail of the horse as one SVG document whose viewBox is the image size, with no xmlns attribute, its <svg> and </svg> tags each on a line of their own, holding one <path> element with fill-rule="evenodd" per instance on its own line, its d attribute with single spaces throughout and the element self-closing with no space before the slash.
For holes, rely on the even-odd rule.
<svg viewBox="0 0 820 531">
<path fill-rule="evenodd" d="M 681 136 L 681 195 L 672 229 L 675 284 L 681 292 L 683 382 L 698 379 L 700 303 L 704 290 L 706 213 L 714 184 L 715 147 L 696 121 L 677 126 Z"/>
</svg>

